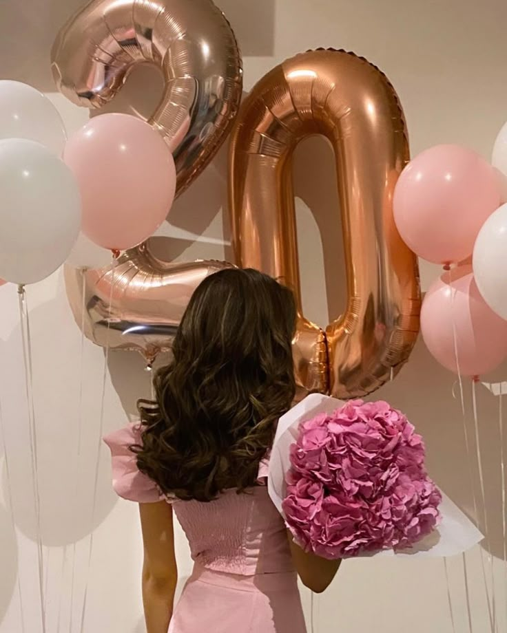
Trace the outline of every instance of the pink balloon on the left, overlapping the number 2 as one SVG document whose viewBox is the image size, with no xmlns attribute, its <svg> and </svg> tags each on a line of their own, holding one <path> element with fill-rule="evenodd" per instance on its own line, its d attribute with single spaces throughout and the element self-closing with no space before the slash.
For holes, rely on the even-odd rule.
<svg viewBox="0 0 507 633">
<path fill-rule="evenodd" d="M 125 250 L 150 237 L 176 191 L 172 153 L 150 125 L 129 114 L 102 114 L 72 136 L 63 159 L 83 198 L 82 230 L 92 242 Z"/>
</svg>

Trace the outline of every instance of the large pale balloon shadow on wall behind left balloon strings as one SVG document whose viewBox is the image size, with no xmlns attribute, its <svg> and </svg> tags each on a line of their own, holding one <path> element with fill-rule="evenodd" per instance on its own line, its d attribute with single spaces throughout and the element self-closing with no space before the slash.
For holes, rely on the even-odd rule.
<svg viewBox="0 0 507 633">
<path fill-rule="evenodd" d="M 30 290 L 29 290 L 30 292 Z M 81 343 L 64 292 L 56 299 L 30 311 L 34 368 L 34 405 L 38 448 L 38 480 L 41 497 L 41 536 L 44 545 L 63 546 L 86 537 L 103 522 L 116 503 L 111 487 L 110 459 L 101 446 L 96 508 L 92 519 L 92 497 L 96 451 L 101 420 L 103 350 L 85 341 L 83 400 L 80 414 Z M 70 332 L 70 336 L 67 336 Z M 54 341 L 50 371 L 47 367 L 48 341 Z M 10 455 L 14 517 L 21 532 L 35 541 L 37 521 L 34 513 L 28 409 L 24 393 L 21 361 L 21 332 L 17 325 L 2 345 L 4 358 L 18 358 L 4 372 L 2 391 L 6 447 Z M 120 427 L 106 389 L 104 432 Z M 9 394 L 9 397 L 6 397 Z M 115 420 L 116 417 L 116 420 Z M 76 461 L 81 425 L 81 458 Z M 8 498 L 5 469 L 3 495 Z M 3 550 L 3 548 L 2 548 Z M 3 576 L 3 572 L 2 572 Z M 3 595 L 3 594 L 2 594 Z"/>
</svg>

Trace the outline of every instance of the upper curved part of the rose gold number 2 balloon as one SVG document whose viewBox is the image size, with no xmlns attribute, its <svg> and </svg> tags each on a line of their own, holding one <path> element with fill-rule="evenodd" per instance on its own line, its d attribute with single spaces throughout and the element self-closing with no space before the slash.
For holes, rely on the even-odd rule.
<svg viewBox="0 0 507 633">
<path fill-rule="evenodd" d="M 225 140 L 242 94 L 236 37 L 211 0 L 93 0 L 61 29 L 51 61 L 59 91 L 85 107 L 112 100 L 134 66 L 161 68 L 148 122 L 172 149 L 178 193 Z"/>
</svg>

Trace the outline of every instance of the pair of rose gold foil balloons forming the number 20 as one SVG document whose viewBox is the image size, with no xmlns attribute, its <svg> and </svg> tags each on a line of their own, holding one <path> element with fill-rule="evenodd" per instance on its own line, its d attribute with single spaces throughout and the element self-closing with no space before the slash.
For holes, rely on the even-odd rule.
<svg viewBox="0 0 507 633">
<path fill-rule="evenodd" d="M 176 147 L 181 191 L 223 141 L 239 99 L 234 35 L 210 0 L 95 0 L 61 32 L 53 67 L 64 94 L 101 105 L 132 65 L 146 60 L 166 72 L 165 98 L 151 122 Z M 337 159 L 349 289 L 345 314 L 325 333 L 302 315 L 291 182 L 296 144 L 317 133 L 331 140 Z M 296 56 L 269 72 L 242 107 L 229 174 L 236 259 L 296 290 L 294 356 L 303 391 L 341 398 L 369 393 L 395 375 L 412 350 L 419 329 L 417 264 L 392 213 L 394 185 L 407 160 L 393 88 L 352 54 Z M 68 270 L 66 277 L 76 321 L 84 316 L 92 341 L 105 345 L 109 327 L 112 347 L 152 358 L 169 345 L 198 282 L 223 266 L 167 265 L 143 247 L 123 256 L 114 274 Z"/>
</svg>

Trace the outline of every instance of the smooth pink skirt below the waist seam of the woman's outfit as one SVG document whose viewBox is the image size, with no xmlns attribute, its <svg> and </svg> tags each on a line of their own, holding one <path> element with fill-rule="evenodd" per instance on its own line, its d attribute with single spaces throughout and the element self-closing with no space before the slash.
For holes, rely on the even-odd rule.
<svg viewBox="0 0 507 633">
<path fill-rule="evenodd" d="M 168 633 L 306 633 L 295 572 L 238 576 L 194 568 Z"/>
</svg>

